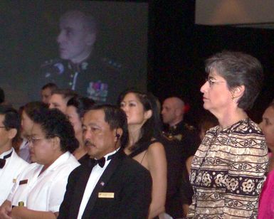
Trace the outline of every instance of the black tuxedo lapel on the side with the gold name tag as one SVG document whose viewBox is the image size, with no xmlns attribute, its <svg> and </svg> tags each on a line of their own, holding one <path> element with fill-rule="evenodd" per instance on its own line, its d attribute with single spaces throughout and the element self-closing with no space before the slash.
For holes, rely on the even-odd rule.
<svg viewBox="0 0 274 219">
<path fill-rule="evenodd" d="M 117 152 L 117 156 L 114 156 L 111 159 L 110 164 L 108 164 L 104 173 L 102 173 L 102 176 L 100 177 L 98 183 L 96 184 L 93 190 L 93 193 L 90 196 L 88 204 L 85 207 L 83 218 L 90 218 L 90 213 L 92 212 L 95 202 L 98 199 L 98 193 L 100 193 L 103 190 L 103 188 L 105 188 L 105 186 L 107 185 L 107 182 L 110 180 L 112 174 L 117 169 L 117 166 L 121 163 L 122 156 L 125 156 L 125 154 L 122 151 L 122 149 L 120 149 L 120 151 Z"/>
</svg>

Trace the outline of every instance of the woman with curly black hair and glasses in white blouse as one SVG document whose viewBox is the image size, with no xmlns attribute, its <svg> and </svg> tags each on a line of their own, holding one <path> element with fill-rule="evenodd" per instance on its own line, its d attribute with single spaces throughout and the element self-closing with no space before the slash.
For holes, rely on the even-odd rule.
<svg viewBox="0 0 274 219">
<path fill-rule="evenodd" d="M 59 110 L 43 110 L 33 117 L 28 168 L 19 175 L 0 218 L 57 218 L 68 175 L 80 164 L 73 127 Z"/>
</svg>

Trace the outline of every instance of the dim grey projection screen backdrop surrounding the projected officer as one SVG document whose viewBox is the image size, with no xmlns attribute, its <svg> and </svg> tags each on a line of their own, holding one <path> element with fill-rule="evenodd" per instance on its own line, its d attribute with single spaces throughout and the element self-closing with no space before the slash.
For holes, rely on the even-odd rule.
<svg viewBox="0 0 274 219">
<path fill-rule="evenodd" d="M 148 5 L 134 1 L 1 0 L 0 87 L 9 102 L 19 107 L 39 98 L 40 90 L 34 89 L 36 75 L 46 60 L 58 58 L 59 18 L 73 9 L 88 12 L 98 21 L 95 56 L 121 66 L 117 71 L 125 81 L 122 88 L 132 86 L 135 80 L 135 85 L 145 90 Z"/>
</svg>

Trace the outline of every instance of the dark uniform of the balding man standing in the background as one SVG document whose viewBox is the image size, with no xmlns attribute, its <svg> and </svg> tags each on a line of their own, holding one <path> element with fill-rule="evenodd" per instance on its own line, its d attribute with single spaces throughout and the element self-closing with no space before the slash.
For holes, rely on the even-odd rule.
<svg viewBox="0 0 274 219">
<path fill-rule="evenodd" d="M 168 166 L 168 189 L 167 193 L 167 212 L 174 218 L 181 218 L 182 204 L 191 204 L 193 194 L 189 175 L 186 170 L 186 159 L 194 156 L 200 144 L 199 133 L 193 126 L 181 121 L 173 127 L 164 130 L 167 166 Z M 170 197 L 168 194 L 170 193 Z M 180 211 L 181 210 L 181 211 Z M 170 211 L 170 212 L 169 212 Z"/>
</svg>

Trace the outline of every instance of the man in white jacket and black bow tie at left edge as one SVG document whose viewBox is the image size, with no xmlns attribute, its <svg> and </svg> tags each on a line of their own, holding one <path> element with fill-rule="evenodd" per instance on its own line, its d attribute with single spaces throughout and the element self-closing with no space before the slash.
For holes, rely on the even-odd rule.
<svg viewBox="0 0 274 219">
<path fill-rule="evenodd" d="M 12 147 L 19 137 L 20 117 L 11 107 L 0 106 L 0 205 L 6 200 L 21 171 L 28 166 Z"/>
</svg>

